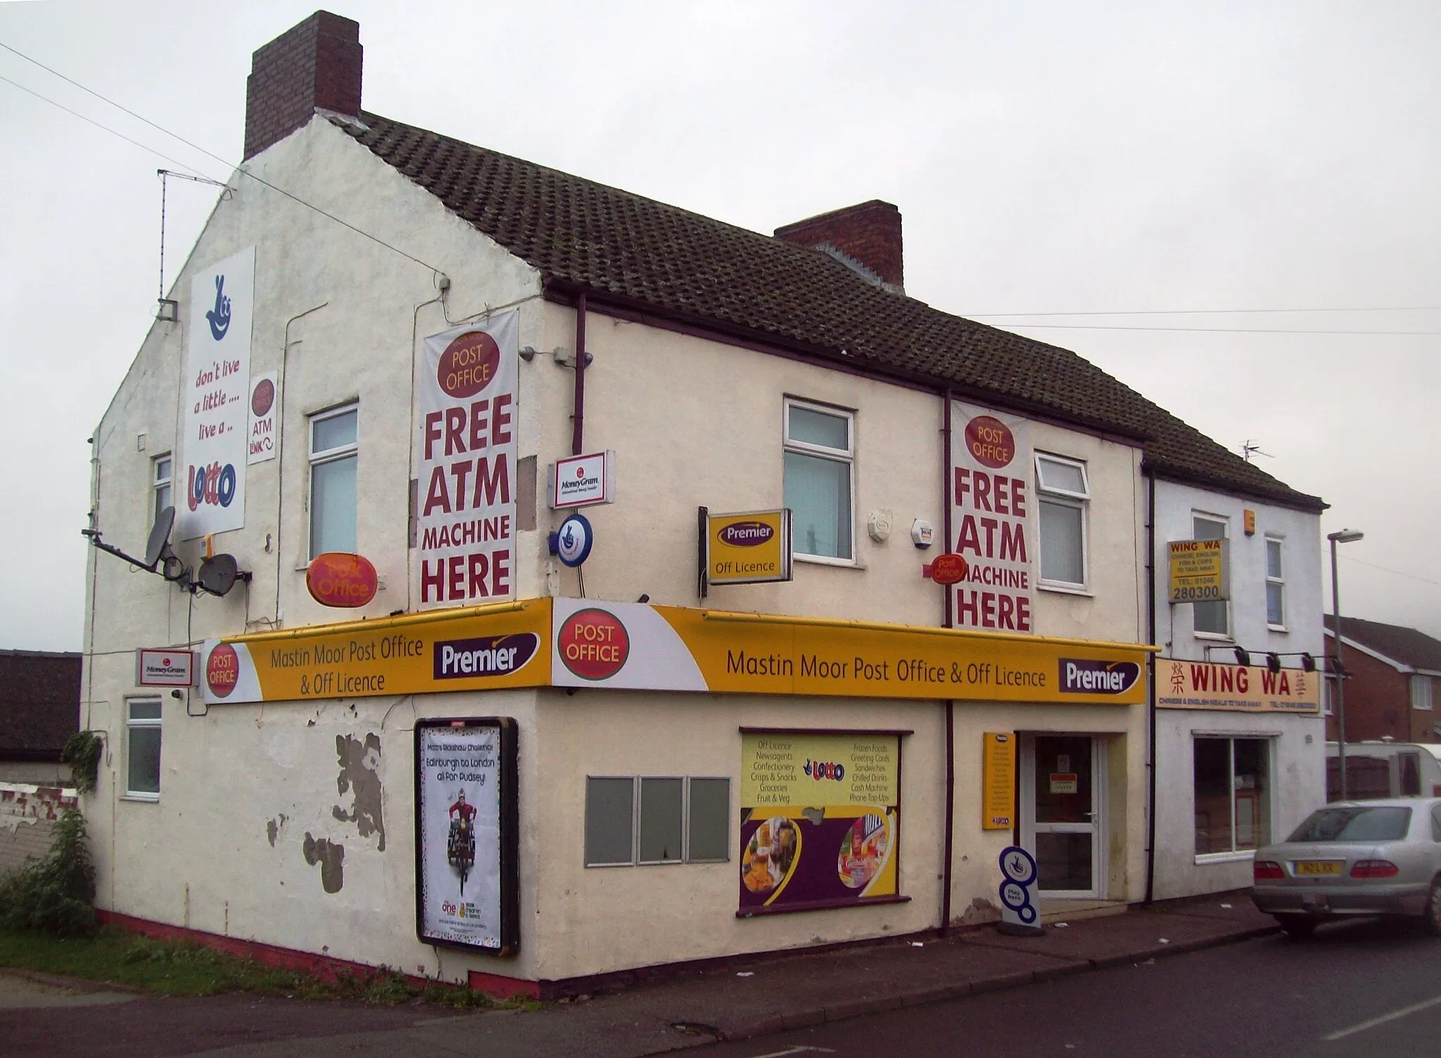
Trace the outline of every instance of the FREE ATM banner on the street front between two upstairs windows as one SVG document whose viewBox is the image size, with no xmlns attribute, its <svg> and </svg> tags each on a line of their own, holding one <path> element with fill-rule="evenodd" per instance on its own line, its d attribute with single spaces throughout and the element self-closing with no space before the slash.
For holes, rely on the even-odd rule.
<svg viewBox="0 0 1441 1058">
<path fill-rule="evenodd" d="M 1033 631 L 1036 500 L 1026 419 L 951 402 L 951 525 L 965 559 L 957 628 Z"/>
</svg>

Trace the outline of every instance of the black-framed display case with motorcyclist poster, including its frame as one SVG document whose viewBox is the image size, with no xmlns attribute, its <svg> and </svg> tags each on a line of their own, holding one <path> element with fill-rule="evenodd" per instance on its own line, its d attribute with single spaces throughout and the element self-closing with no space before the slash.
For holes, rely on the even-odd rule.
<svg viewBox="0 0 1441 1058">
<path fill-rule="evenodd" d="M 497 954 L 516 943 L 514 721 L 415 726 L 416 933 Z"/>
</svg>

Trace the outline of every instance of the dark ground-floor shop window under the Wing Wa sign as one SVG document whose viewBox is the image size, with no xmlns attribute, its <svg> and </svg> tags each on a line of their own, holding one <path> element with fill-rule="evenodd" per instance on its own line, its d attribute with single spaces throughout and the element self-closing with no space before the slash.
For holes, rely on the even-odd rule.
<svg viewBox="0 0 1441 1058">
<path fill-rule="evenodd" d="M 1197 735 L 1196 855 L 1271 840 L 1271 739 Z"/>
</svg>

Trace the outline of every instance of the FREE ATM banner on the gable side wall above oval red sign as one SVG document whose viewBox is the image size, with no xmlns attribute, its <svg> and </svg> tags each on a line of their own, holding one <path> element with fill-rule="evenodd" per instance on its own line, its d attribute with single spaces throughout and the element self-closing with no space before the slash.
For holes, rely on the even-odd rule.
<svg viewBox="0 0 1441 1058">
<path fill-rule="evenodd" d="M 419 608 L 514 595 L 520 313 L 431 334 L 415 385 Z"/>
</svg>

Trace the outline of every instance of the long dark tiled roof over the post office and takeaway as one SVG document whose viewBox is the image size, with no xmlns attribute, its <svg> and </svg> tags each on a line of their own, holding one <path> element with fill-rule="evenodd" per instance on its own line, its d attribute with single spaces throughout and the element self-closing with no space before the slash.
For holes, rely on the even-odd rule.
<svg viewBox="0 0 1441 1058">
<path fill-rule="evenodd" d="M 1144 440 L 1163 477 L 1324 506 L 1089 360 L 876 287 L 824 252 L 376 114 L 334 121 L 516 257 L 602 300 Z"/>
</svg>

